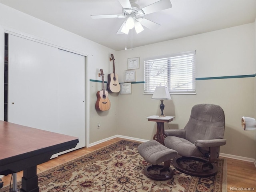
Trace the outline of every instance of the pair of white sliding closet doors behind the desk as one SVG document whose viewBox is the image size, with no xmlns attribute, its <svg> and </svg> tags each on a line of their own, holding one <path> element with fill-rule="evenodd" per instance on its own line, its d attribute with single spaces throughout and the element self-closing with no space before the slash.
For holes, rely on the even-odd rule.
<svg viewBox="0 0 256 192">
<path fill-rule="evenodd" d="M 85 146 L 85 57 L 9 35 L 8 121 Z"/>
</svg>

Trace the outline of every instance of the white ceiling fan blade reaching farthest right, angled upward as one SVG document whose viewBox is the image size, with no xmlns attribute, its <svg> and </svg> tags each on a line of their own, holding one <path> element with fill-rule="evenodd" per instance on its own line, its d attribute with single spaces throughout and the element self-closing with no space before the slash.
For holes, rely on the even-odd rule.
<svg viewBox="0 0 256 192">
<path fill-rule="evenodd" d="M 146 14 L 154 13 L 157 11 L 169 9 L 169 8 L 172 8 L 172 4 L 170 0 L 160 0 L 158 2 L 155 2 L 151 5 L 148 5 L 142 8 L 141 10 L 146 15 Z"/>
</svg>

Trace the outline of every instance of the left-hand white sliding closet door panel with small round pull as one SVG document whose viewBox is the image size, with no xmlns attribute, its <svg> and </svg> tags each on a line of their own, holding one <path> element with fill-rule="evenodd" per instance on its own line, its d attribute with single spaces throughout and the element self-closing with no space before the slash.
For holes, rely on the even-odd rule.
<svg viewBox="0 0 256 192">
<path fill-rule="evenodd" d="M 9 34 L 8 121 L 58 130 L 58 48 Z"/>
</svg>

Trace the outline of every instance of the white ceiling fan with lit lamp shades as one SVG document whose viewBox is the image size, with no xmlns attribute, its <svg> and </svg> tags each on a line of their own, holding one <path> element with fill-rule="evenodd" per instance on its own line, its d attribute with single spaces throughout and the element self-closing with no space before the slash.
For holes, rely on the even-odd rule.
<svg viewBox="0 0 256 192">
<path fill-rule="evenodd" d="M 91 15 L 93 19 L 102 18 L 127 18 L 123 22 L 122 26 L 119 28 L 116 34 L 128 34 L 129 30 L 135 28 L 136 33 L 140 33 L 144 30 L 142 27 L 145 26 L 151 30 L 156 29 L 160 26 L 153 21 L 143 18 L 144 15 L 154 13 L 157 11 L 172 8 L 170 0 L 159 0 L 153 4 L 150 4 L 144 8 L 140 8 L 137 4 L 138 0 L 118 0 L 122 5 L 122 14 L 116 15 Z"/>
</svg>

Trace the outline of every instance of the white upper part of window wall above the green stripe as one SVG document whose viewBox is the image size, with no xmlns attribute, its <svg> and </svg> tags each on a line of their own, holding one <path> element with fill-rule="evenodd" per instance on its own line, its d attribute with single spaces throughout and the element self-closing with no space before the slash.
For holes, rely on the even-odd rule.
<svg viewBox="0 0 256 192">
<path fill-rule="evenodd" d="M 144 81 L 143 60 L 152 56 L 196 50 L 196 78 L 255 73 L 254 23 L 141 46 L 118 52 L 119 68 L 127 70 L 127 58 L 140 57 L 136 81 Z"/>
</svg>

